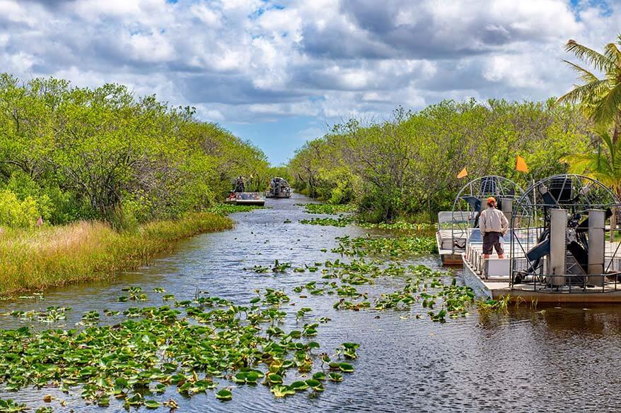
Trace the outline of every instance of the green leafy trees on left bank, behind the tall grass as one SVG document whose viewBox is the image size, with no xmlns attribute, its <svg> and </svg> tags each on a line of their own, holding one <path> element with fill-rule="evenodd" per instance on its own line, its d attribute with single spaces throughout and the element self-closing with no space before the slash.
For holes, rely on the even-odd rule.
<svg viewBox="0 0 621 413">
<path fill-rule="evenodd" d="M 0 225 L 131 227 L 207 208 L 239 175 L 264 188 L 265 154 L 192 107 L 123 85 L 0 75 Z"/>
</svg>

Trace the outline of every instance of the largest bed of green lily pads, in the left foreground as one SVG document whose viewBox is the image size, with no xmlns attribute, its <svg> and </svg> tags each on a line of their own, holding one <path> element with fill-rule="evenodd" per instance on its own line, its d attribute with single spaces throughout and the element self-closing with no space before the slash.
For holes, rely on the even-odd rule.
<svg viewBox="0 0 621 413">
<path fill-rule="evenodd" d="M 143 294 L 137 287 L 126 291 Z M 221 401 L 233 397 L 232 388 L 226 385 L 231 382 L 255 385 L 262 381 L 275 397 L 307 389 L 323 391 L 319 378 L 342 381 L 340 373 L 351 373 L 354 368 L 332 362 L 327 366 L 330 375 L 323 371 L 310 374 L 319 359 L 313 350 L 319 345 L 307 340 L 318 335 L 319 324 L 305 323 L 291 331 L 279 328 L 276 323 L 286 316 L 281 307 L 288 301 L 277 289 L 257 292 L 249 306 L 197 292 L 195 299 L 177 303 L 183 309 L 131 307 L 123 312 L 125 320 L 115 325 L 97 325 L 100 314 L 88 311 L 82 316 L 87 326 L 81 330 L 0 330 L 0 381 L 8 391 L 52 385 L 65 393 L 78 391 L 86 402 L 99 406 L 118 399 L 126 409 L 177 408 L 172 399 L 156 400 L 169 386 L 185 397 L 218 389 L 214 397 Z M 67 310 L 50 307 L 47 313 Z M 310 311 L 303 307 L 296 316 L 303 318 Z M 355 343 L 344 343 L 337 355 L 354 359 L 357 348 Z M 319 359 L 321 364 L 325 357 Z M 290 371 L 313 378 L 286 384 Z M 50 396 L 47 401 L 51 400 Z M 25 408 L 12 400 L 0 400 L 0 412 Z"/>
</svg>

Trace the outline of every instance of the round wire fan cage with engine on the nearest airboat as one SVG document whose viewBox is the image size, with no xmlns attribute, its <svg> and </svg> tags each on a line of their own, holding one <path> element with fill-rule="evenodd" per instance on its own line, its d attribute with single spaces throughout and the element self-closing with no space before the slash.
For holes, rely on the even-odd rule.
<svg viewBox="0 0 621 413">
<path fill-rule="evenodd" d="M 616 291 L 620 201 L 588 176 L 549 176 L 513 203 L 510 285 L 564 292 Z M 621 287 L 621 285 L 620 285 Z"/>
</svg>

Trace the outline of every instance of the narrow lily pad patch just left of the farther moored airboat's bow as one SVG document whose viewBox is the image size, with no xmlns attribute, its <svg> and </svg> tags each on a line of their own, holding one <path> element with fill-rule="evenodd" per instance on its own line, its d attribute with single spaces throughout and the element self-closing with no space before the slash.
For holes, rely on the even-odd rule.
<svg viewBox="0 0 621 413">
<path fill-rule="evenodd" d="M 337 237 L 339 246 L 333 253 L 344 256 L 385 256 L 400 258 L 422 253 L 436 253 L 433 237 Z"/>
</svg>

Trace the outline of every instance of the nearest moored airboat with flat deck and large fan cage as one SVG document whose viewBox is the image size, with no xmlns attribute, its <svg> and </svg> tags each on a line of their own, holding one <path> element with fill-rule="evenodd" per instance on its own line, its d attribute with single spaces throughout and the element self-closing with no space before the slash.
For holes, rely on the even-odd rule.
<svg viewBox="0 0 621 413">
<path fill-rule="evenodd" d="M 473 200 L 469 205 L 477 209 Z M 455 227 L 454 246 L 445 251 L 461 256 L 466 282 L 489 298 L 621 302 L 621 234 L 616 225 L 620 206 L 608 186 L 595 179 L 550 176 L 519 196 L 516 191 L 511 210 L 503 209 L 511 217 L 504 237 L 508 258 L 484 258 L 480 233 L 477 236 L 474 222 L 469 221 L 474 211 L 468 210 L 453 210 L 453 217 L 464 219 L 449 222 Z M 462 230 L 467 224 L 471 225 Z"/>
</svg>

